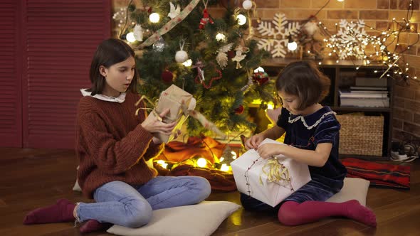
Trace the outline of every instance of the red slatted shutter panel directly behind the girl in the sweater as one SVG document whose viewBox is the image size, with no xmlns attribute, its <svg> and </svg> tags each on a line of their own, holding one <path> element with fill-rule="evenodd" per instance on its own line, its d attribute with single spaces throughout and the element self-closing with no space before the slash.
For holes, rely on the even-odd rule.
<svg viewBox="0 0 420 236">
<path fill-rule="evenodd" d="M 73 149 L 80 88 L 110 37 L 110 0 L 25 0 L 23 146 Z"/>
</svg>

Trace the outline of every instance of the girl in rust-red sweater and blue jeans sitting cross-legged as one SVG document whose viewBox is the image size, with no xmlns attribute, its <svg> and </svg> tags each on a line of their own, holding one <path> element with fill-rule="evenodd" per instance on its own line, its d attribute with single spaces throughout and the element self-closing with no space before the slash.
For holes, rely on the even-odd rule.
<svg viewBox="0 0 420 236">
<path fill-rule="evenodd" d="M 95 203 L 61 199 L 28 213 L 24 224 L 86 221 L 81 232 L 109 223 L 141 227 L 152 218 L 152 210 L 196 204 L 209 196 L 205 178 L 157 176 L 147 166 L 146 161 L 164 147 L 152 133 L 170 134 L 175 123 L 164 124 L 146 112 L 135 114 L 145 108 L 143 103 L 135 105 L 140 98 L 137 80 L 132 48 L 112 38 L 100 43 L 90 65 L 92 87 L 81 90 L 75 148 L 78 183 L 83 195 Z"/>
</svg>

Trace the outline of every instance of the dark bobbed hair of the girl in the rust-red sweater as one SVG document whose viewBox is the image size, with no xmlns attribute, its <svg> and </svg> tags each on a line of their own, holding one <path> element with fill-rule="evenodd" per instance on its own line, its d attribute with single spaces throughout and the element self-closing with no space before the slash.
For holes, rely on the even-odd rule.
<svg viewBox="0 0 420 236">
<path fill-rule="evenodd" d="M 134 50 L 125 43 L 116 38 L 108 38 L 102 41 L 93 55 L 92 63 L 90 64 L 90 82 L 92 87 L 90 92 L 93 95 L 102 94 L 103 87 L 105 85 L 105 77 L 100 74 L 99 68 L 103 65 L 105 68 L 110 68 L 111 65 L 120 63 L 127 60 L 127 58 L 135 58 Z M 139 73 L 135 69 L 134 77 L 127 91 L 137 92 L 137 80 Z"/>
</svg>

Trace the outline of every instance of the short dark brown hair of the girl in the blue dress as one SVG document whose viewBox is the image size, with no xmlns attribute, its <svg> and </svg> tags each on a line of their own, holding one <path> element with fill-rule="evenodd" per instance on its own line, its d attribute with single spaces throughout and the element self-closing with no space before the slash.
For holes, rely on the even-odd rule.
<svg viewBox="0 0 420 236">
<path fill-rule="evenodd" d="M 299 97 L 297 109 L 303 110 L 321 102 L 330 92 L 331 80 L 311 61 L 288 64 L 275 80 L 277 91 Z"/>
</svg>

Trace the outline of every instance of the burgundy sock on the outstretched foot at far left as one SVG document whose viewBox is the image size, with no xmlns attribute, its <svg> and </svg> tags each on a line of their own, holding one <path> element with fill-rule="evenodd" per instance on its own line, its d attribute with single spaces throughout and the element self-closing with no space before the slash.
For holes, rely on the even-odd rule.
<svg viewBox="0 0 420 236">
<path fill-rule="evenodd" d="M 75 204 L 69 200 L 60 199 L 57 203 L 45 208 L 31 211 L 23 219 L 24 225 L 45 224 L 54 222 L 69 222 L 75 220 L 73 210 Z"/>
</svg>

